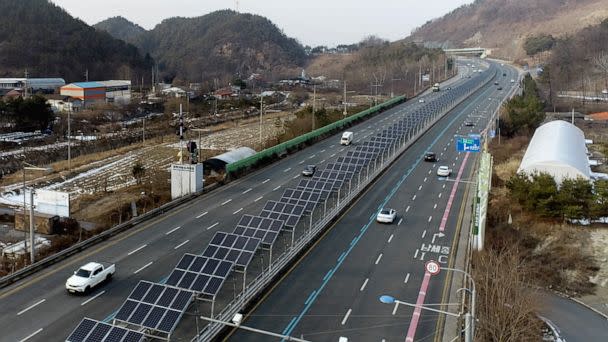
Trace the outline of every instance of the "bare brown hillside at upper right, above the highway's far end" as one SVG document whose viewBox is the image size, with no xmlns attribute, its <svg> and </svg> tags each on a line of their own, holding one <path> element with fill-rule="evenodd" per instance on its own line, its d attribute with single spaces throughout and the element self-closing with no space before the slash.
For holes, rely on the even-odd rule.
<svg viewBox="0 0 608 342">
<path fill-rule="evenodd" d="M 608 17 L 608 0 L 475 0 L 414 30 L 409 37 L 442 47 L 494 48 L 508 59 L 525 56 L 528 36 L 565 36 Z"/>
</svg>

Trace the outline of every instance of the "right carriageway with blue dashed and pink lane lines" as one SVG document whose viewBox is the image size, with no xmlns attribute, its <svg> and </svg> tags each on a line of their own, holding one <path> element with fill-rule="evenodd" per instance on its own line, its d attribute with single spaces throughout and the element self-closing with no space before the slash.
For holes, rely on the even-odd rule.
<svg viewBox="0 0 608 342">
<path fill-rule="evenodd" d="M 319 240 L 309 253 L 247 313 L 243 325 L 311 341 L 432 341 L 438 314 L 382 304 L 388 294 L 405 302 L 445 301 L 443 274 L 425 277 L 430 259 L 447 265 L 463 212 L 475 154 L 456 152 L 454 135 L 479 133 L 509 91 L 516 71 L 502 67 L 497 79 L 446 115 L 410 147 Z M 474 126 L 465 126 L 471 121 Z M 436 163 L 424 162 L 435 151 Z M 451 178 L 436 176 L 439 165 Z M 395 190 L 396 189 L 396 190 Z M 375 222 L 379 208 L 397 209 L 394 224 Z M 443 236 L 441 234 L 443 234 Z M 436 307 L 436 306 L 435 306 Z M 439 335 L 438 335 L 439 336 Z M 232 331 L 229 341 L 259 341 Z M 272 340 L 272 339 L 264 339 Z"/>
</svg>

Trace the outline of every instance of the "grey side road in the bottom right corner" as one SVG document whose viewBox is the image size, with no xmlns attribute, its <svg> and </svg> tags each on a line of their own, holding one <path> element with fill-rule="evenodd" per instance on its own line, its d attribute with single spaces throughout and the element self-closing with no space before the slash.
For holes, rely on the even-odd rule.
<svg viewBox="0 0 608 342">
<path fill-rule="evenodd" d="M 539 313 L 561 331 L 568 342 L 606 341 L 608 321 L 597 313 L 567 298 L 546 291 L 537 291 Z"/>
</svg>

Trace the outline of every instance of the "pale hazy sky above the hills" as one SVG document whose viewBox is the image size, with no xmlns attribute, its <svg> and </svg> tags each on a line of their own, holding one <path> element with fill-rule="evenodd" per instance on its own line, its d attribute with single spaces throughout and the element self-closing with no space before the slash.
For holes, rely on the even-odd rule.
<svg viewBox="0 0 608 342">
<path fill-rule="evenodd" d="M 170 17 L 236 9 L 236 0 L 52 0 L 88 24 L 121 15 L 146 29 Z M 239 11 L 265 16 L 302 44 L 335 46 L 375 34 L 405 38 L 426 21 L 473 0 L 239 0 Z"/>
</svg>

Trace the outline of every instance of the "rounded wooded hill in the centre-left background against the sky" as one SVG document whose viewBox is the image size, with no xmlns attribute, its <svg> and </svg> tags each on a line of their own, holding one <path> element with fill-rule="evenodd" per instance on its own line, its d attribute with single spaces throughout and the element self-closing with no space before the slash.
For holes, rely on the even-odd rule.
<svg viewBox="0 0 608 342">
<path fill-rule="evenodd" d="M 306 60 L 304 48 L 270 20 L 230 10 L 166 19 L 134 43 L 154 57 L 167 80 L 272 77 Z"/>
</svg>

